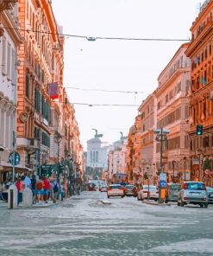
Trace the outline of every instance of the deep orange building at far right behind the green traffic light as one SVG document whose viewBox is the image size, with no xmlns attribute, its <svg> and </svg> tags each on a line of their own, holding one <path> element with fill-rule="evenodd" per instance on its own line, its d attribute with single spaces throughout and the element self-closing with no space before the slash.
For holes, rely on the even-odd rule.
<svg viewBox="0 0 213 256">
<path fill-rule="evenodd" d="M 190 150 L 193 180 L 213 185 L 213 2 L 205 1 L 191 26 L 186 54 L 191 59 Z M 197 125 L 204 134 L 197 136 Z"/>
</svg>

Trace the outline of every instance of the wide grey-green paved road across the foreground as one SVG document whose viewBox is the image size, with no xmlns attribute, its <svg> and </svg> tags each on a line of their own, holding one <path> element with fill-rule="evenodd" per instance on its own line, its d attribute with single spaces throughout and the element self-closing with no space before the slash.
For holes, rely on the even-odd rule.
<svg viewBox="0 0 213 256">
<path fill-rule="evenodd" d="M 212 216 L 211 206 L 160 207 L 84 192 L 50 208 L 0 208 L 0 255 L 212 256 Z"/>
</svg>

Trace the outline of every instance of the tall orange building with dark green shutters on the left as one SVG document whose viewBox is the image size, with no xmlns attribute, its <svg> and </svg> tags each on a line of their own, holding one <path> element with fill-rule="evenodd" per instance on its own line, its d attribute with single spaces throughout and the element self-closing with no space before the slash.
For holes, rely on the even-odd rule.
<svg viewBox="0 0 213 256">
<path fill-rule="evenodd" d="M 18 52 L 17 148 L 21 163 L 36 170 L 49 157 L 52 117 L 48 84 L 62 86 L 63 41 L 57 35 L 50 1 L 20 0 L 18 16 L 25 42 Z M 57 59 L 61 61 L 55 66 Z"/>
</svg>

